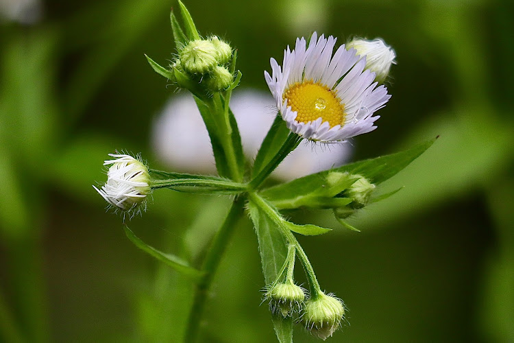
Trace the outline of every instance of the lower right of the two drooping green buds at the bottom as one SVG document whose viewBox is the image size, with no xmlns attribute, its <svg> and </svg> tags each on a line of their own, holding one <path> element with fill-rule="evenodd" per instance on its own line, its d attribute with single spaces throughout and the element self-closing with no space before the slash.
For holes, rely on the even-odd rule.
<svg viewBox="0 0 514 343">
<path fill-rule="evenodd" d="M 339 329 L 344 315 L 345 307 L 341 299 L 319 292 L 317 298 L 306 301 L 302 322 L 310 333 L 326 340 Z"/>
</svg>

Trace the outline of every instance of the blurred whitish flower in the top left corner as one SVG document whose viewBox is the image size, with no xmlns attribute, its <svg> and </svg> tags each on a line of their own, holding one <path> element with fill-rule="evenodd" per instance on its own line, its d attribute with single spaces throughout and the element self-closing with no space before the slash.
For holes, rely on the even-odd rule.
<svg viewBox="0 0 514 343">
<path fill-rule="evenodd" d="M 32 25 L 40 21 L 41 16 L 40 0 L 0 0 L 0 21 Z"/>
</svg>

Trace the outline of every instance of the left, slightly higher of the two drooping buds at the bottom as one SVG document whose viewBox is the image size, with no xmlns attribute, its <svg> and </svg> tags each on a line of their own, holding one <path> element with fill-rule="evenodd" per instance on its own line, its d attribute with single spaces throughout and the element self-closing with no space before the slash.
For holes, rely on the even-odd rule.
<svg viewBox="0 0 514 343">
<path fill-rule="evenodd" d="M 265 298 L 269 299 L 273 314 L 280 313 L 286 318 L 302 308 L 305 292 L 292 282 L 278 283 L 266 292 Z"/>
</svg>

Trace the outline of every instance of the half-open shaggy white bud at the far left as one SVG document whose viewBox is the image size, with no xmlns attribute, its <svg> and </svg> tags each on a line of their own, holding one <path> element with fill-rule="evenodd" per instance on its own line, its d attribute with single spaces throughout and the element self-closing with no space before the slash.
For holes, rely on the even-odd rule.
<svg viewBox="0 0 514 343">
<path fill-rule="evenodd" d="M 135 210 L 151 191 L 148 168 L 143 162 L 125 154 L 109 154 L 114 160 L 104 161 L 111 165 L 107 172 L 107 182 L 98 189 L 101 196 L 111 205 L 123 211 Z"/>
</svg>

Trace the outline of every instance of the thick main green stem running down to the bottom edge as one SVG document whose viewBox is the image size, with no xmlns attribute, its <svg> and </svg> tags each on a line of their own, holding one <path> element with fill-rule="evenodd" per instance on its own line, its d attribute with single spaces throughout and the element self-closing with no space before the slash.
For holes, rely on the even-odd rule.
<svg viewBox="0 0 514 343">
<path fill-rule="evenodd" d="M 198 327 L 201 320 L 201 314 L 204 311 L 205 301 L 207 298 L 208 289 L 212 283 L 212 278 L 218 268 L 223 252 L 227 247 L 228 240 L 234 232 L 236 221 L 243 215 L 244 212 L 245 198 L 238 197 L 234 199 L 232 207 L 228 212 L 225 222 L 215 235 L 210 249 L 204 260 L 204 265 L 201 271 L 204 272 L 204 276 L 200 279 L 196 285 L 195 296 L 193 298 L 193 307 L 191 307 L 191 313 L 189 314 L 188 324 L 186 327 L 185 342 L 195 342 L 198 334 Z"/>
</svg>

